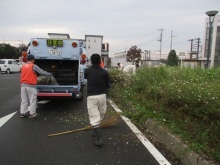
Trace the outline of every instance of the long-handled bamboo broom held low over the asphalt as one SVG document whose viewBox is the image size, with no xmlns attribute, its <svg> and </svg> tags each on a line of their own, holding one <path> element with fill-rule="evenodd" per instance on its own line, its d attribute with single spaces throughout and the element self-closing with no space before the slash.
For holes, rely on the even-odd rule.
<svg viewBox="0 0 220 165">
<path fill-rule="evenodd" d="M 100 127 L 101 128 L 106 128 L 106 127 L 114 126 L 118 123 L 118 121 L 119 121 L 118 119 L 119 119 L 119 115 L 112 116 L 112 117 L 102 121 L 100 123 Z M 48 135 L 48 137 L 59 136 L 59 135 L 64 135 L 64 134 L 69 134 L 69 133 L 80 132 L 80 131 L 87 131 L 87 130 L 91 130 L 91 129 L 93 129 L 93 126 L 90 125 L 90 126 L 87 126 L 87 127 L 84 127 L 84 128 L 79 128 L 79 129 L 75 129 L 75 130 L 71 130 L 71 131 L 50 134 L 50 135 Z"/>
</svg>

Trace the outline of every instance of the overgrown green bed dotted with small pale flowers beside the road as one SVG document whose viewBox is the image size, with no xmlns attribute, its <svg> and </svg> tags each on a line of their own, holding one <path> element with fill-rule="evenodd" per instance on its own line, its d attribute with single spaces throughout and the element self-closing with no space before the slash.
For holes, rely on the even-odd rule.
<svg viewBox="0 0 220 165">
<path fill-rule="evenodd" d="M 109 97 L 136 124 L 154 119 L 191 150 L 220 161 L 220 69 L 140 67 L 131 76 L 109 73 Z"/>
</svg>

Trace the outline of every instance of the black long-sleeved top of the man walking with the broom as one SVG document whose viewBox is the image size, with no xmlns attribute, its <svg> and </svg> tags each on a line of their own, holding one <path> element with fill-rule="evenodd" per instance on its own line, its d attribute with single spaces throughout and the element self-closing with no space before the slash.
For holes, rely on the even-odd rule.
<svg viewBox="0 0 220 165">
<path fill-rule="evenodd" d="M 109 74 L 99 65 L 92 65 L 85 70 L 87 96 L 106 94 L 110 88 Z"/>
</svg>

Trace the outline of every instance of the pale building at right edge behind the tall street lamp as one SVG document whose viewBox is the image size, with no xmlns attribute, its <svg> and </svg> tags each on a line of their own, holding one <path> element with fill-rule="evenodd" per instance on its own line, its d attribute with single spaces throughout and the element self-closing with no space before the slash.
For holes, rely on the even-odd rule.
<svg viewBox="0 0 220 165">
<path fill-rule="evenodd" d="M 204 65 L 206 65 L 207 61 L 205 60 L 207 59 L 209 39 L 209 18 L 205 19 L 204 33 L 204 51 L 202 58 L 204 59 Z M 212 23 L 209 61 L 210 67 L 220 66 L 220 15 L 216 15 Z"/>
</svg>

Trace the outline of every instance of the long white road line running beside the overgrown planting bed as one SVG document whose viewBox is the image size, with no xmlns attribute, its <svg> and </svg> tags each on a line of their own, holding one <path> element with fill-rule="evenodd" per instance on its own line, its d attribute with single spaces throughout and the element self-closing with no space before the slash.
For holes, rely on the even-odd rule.
<svg viewBox="0 0 220 165">
<path fill-rule="evenodd" d="M 119 112 L 119 114 L 122 112 L 114 104 L 113 101 L 111 101 L 110 99 L 108 99 L 108 101 L 111 104 L 111 106 L 115 109 L 116 112 Z M 144 136 L 144 134 L 127 117 L 121 115 L 121 118 L 130 127 L 130 129 L 135 133 L 138 139 L 148 149 L 148 151 L 153 155 L 153 157 L 158 161 L 160 165 L 171 165 L 170 162 L 166 160 L 166 158 L 154 147 L 154 145 Z"/>
</svg>

